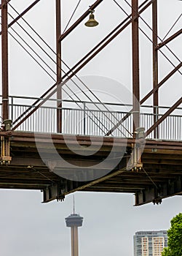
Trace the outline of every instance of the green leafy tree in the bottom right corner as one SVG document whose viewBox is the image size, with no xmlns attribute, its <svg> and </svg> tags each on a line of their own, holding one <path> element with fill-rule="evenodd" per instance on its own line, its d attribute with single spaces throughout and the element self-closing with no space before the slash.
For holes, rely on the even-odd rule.
<svg viewBox="0 0 182 256">
<path fill-rule="evenodd" d="M 171 219 L 167 236 L 167 248 L 163 250 L 162 256 L 182 256 L 182 213 Z"/>
</svg>

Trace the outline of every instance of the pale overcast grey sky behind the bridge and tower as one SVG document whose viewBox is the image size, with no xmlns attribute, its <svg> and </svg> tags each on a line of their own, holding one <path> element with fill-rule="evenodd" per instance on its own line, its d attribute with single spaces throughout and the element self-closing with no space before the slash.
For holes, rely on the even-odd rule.
<svg viewBox="0 0 182 256">
<path fill-rule="evenodd" d="M 33 1 L 12 0 L 10 3 L 18 12 L 22 12 L 31 2 Z M 77 0 L 62 1 L 63 29 L 77 2 Z M 79 18 L 82 12 L 87 10 L 87 7 L 93 2 L 82 0 L 72 22 Z M 140 3 L 142 2 L 140 1 Z M 178 0 L 160 0 L 158 2 L 159 37 L 164 38 L 175 20 L 181 15 L 182 2 Z M 118 0 L 118 3 L 129 12 L 129 7 L 124 0 Z M 12 12 L 10 7 L 9 11 L 15 17 L 15 12 Z M 25 19 L 53 49 L 55 49 L 54 11 L 55 1 L 41 0 L 33 10 L 25 15 Z M 151 8 L 143 13 L 142 17 L 151 25 Z M 75 64 L 93 45 L 106 36 L 111 29 L 114 29 L 119 21 L 125 18 L 125 15 L 114 4 L 114 1 L 106 0 L 95 10 L 95 18 L 100 23 L 98 27 L 90 29 L 84 27 L 84 23 L 82 23 L 63 41 L 63 60 L 69 66 Z M 25 26 L 22 21 L 20 23 Z M 142 21 L 140 26 L 151 36 L 151 31 Z M 44 56 L 17 25 L 14 25 L 13 28 L 20 32 L 41 56 Z M 25 28 L 30 31 L 27 26 Z M 181 29 L 181 20 L 178 20 L 168 36 L 179 29 Z M 111 78 L 131 90 L 130 31 L 131 28 L 128 27 L 119 37 L 114 39 L 103 52 L 79 72 L 79 76 L 93 75 L 94 78 L 96 76 Z M 13 34 L 13 31 L 11 32 Z M 38 38 L 36 40 L 40 42 Z M 152 48 L 149 39 L 146 39 L 141 32 L 140 40 L 142 97 L 152 86 Z M 173 43 L 171 42 L 169 47 L 181 59 L 181 37 L 175 39 Z M 52 54 L 50 50 L 49 53 Z M 169 50 L 164 48 L 164 53 L 175 65 L 178 64 L 178 60 L 172 56 Z M 55 58 L 53 54 L 52 57 Z M 47 57 L 44 56 L 44 58 Z M 47 64 L 55 69 L 55 65 L 49 59 L 47 59 Z M 162 80 L 173 67 L 160 53 L 159 64 L 159 80 Z M 20 45 L 17 45 L 17 42 L 9 36 L 10 94 L 39 97 L 53 83 L 44 70 L 30 59 L 28 54 L 20 48 Z M 95 84 L 92 85 L 95 90 L 107 92 L 103 99 L 111 99 L 111 97 L 108 97 L 108 93 L 111 93 L 112 97 L 119 97 L 119 88 L 113 88 L 111 85 L 112 89 L 110 89 L 108 86 L 106 88 L 105 84 L 99 84 L 98 86 L 95 86 Z M 172 88 L 173 92 L 171 93 Z M 162 88 L 160 92 L 161 105 L 173 104 L 182 93 L 181 75 L 176 72 L 173 78 L 170 78 L 167 82 L 167 86 Z M 119 100 L 124 101 L 122 92 L 120 94 L 121 99 L 119 98 Z M 151 104 L 151 100 L 148 103 Z M 133 255 L 132 236 L 136 231 L 166 230 L 170 225 L 170 219 L 182 211 L 181 196 L 163 200 L 160 206 L 147 204 L 140 207 L 133 207 L 134 197 L 127 194 L 77 192 L 75 198 L 76 212 L 84 217 L 83 227 L 79 228 L 79 252 L 81 256 L 131 256 Z M 64 219 L 72 212 L 72 196 L 68 195 L 63 203 L 41 204 L 41 200 L 41 192 L 0 190 L 1 255 L 71 255 L 71 235 Z"/>
</svg>

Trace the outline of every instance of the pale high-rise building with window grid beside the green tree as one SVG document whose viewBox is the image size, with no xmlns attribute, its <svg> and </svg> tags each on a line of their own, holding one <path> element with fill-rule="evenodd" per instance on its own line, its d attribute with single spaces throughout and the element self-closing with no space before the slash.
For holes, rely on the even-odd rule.
<svg viewBox="0 0 182 256">
<path fill-rule="evenodd" d="M 167 247 L 167 231 L 138 231 L 134 238 L 134 256 L 161 256 Z"/>
</svg>

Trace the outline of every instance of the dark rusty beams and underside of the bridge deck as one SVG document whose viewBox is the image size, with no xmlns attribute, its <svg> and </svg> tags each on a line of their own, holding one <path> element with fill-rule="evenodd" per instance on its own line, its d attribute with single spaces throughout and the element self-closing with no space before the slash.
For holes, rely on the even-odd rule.
<svg viewBox="0 0 182 256">
<path fill-rule="evenodd" d="M 2 135 L 4 133 L 2 132 Z M 115 140 L 116 151 L 124 150 L 119 164 L 114 170 L 103 162 L 103 170 L 108 169 L 104 177 L 92 181 L 71 181 L 68 177 L 80 167 L 97 165 L 106 159 L 108 152 L 113 146 L 113 138 L 103 138 L 100 150 L 91 156 L 82 156 L 79 150 L 76 151 L 76 142 L 72 135 L 67 137 L 67 143 L 71 143 L 74 151 L 70 151 L 63 135 L 52 135 L 52 141 L 58 154 L 63 159 L 75 166 L 76 169 L 61 165 L 57 173 L 50 171 L 54 165 L 52 148 L 47 146 L 47 135 L 40 134 L 39 142 L 42 150 L 50 155 L 48 166 L 42 161 L 36 148 L 33 133 L 12 132 L 10 138 L 10 152 L 12 161 L 9 165 L 0 166 L 0 188 L 1 189 L 41 189 L 44 192 L 44 202 L 54 199 L 62 199 L 68 193 L 80 190 L 89 192 L 127 192 L 135 194 L 135 205 L 143 203 L 160 203 L 163 197 L 181 195 L 182 193 L 182 142 L 146 140 L 141 157 L 143 168 L 141 170 L 126 170 L 127 162 L 130 159 L 132 147 L 135 144 L 133 139 L 117 138 Z M 89 136 L 77 136 L 80 146 L 90 145 Z M 92 138 L 95 146 L 100 141 L 97 137 Z M 126 148 L 124 147 L 126 146 Z M 94 149 L 94 148 L 93 148 Z M 56 167 L 55 167 L 56 170 Z M 97 172 L 102 172 L 101 169 Z"/>
</svg>

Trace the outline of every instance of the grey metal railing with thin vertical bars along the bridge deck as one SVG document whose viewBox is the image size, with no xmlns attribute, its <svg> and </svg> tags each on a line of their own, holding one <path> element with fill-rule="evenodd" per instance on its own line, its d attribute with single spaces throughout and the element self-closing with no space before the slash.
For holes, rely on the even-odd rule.
<svg viewBox="0 0 182 256">
<path fill-rule="evenodd" d="M 21 121 L 36 106 L 32 97 L 9 97 L 9 118 L 13 126 Z M 1 107 L 1 105 L 0 105 Z M 167 107 L 157 107 L 159 119 Z M 130 110 L 132 105 L 117 103 L 62 101 L 62 133 L 74 135 L 103 136 L 114 127 Z M 50 99 L 28 117 L 16 130 L 26 132 L 57 132 L 57 100 Z M 141 127 L 147 131 L 154 124 L 154 106 L 141 106 Z M 23 114 L 24 113 L 24 114 Z M 20 116 L 23 115 L 21 118 Z M 112 132 L 112 136 L 131 138 L 133 130 L 132 113 Z M 158 127 L 162 140 L 182 140 L 182 108 L 175 110 Z M 148 138 L 154 138 L 154 131 Z"/>
</svg>

